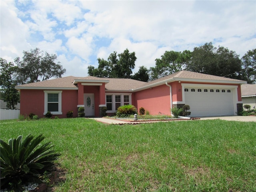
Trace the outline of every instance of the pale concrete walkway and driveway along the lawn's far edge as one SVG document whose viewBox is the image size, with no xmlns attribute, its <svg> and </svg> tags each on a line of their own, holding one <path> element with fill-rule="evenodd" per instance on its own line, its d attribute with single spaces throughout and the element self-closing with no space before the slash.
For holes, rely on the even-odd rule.
<svg viewBox="0 0 256 192">
<path fill-rule="evenodd" d="M 109 118 L 92 118 L 92 119 L 98 122 L 106 123 L 106 124 L 120 124 L 120 125 L 160 122 L 160 121 L 127 122 L 127 121 L 109 119 Z M 200 120 L 213 120 L 213 119 L 228 120 L 228 121 L 256 122 L 256 116 L 218 116 L 218 117 L 201 117 L 200 118 Z"/>
</svg>

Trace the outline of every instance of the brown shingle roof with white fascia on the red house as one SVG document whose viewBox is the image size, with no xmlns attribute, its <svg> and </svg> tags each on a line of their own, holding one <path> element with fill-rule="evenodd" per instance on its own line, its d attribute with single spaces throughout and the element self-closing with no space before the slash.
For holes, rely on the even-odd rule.
<svg viewBox="0 0 256 192">
<path fill-rule="evenodd" d="M 142 82 L 133 79 L 124 78 L 98 78 L 93 76 L 87 77 L 74 77 L 68 76 L 63 78 L 57 78 L 47 81 L 34 82 L 30 84 L 24 84 L 16 86 L 20 89 L 78 89 L 77 83 L 106 83 L 105 88 L 107 92 L 111 91 L 138 91 L 146 88 L 159 86 L 165 83 L 174 81 L 186 81 L 186 82 L 208 82 L 208 83 L 226 83 L 226 84 L 246 84 L 246 81 L 230 79 L 225 77 L 219 77 L 214 75 L 196 73 L 182 70 L 180 72 L 159 78 L 151 82 Z"/>
</svg>

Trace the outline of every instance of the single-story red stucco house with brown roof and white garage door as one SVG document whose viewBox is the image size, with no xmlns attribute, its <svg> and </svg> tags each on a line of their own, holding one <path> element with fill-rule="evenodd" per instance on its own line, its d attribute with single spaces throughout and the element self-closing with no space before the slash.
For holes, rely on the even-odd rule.
<svg viewBox="0 0 256 192">
<path fill-rule="evenodd" d="M 20 91 L 20 114 L 43 117 L 48 111 L 65 118 L 84 106 L 86 116 L 116 112 L 119 106 L 132 104 L 150 114 L 171 114 L 171 108 L 190 106 L 191 117 L 236 115 L 242 109 L 241 84 L 246 81 L 189 72 L 180 72 L 141 82 L 124 78 L 68 76 L 15 88 Z"/>
</svg>

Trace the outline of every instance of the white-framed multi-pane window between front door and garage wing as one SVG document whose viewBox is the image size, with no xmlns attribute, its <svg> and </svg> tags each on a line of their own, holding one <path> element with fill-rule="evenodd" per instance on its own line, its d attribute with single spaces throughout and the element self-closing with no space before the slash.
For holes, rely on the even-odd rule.
<svg viewBox="0 0 256 192">
<path fill-rule="evenodd" d="M 106 106 L 110 112 L 115 112 L 118 107 L 130 104 L 131 94 L 107 94 Z"/>
</svg>

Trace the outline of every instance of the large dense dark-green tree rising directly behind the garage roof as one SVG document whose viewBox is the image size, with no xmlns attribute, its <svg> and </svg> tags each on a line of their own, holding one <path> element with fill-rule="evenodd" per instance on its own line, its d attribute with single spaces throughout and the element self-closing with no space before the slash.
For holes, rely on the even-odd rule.
<svg viewBox="0 0 256 192">
<path fill-rule="evenodd" d="M 241 60 L 234 51 L 212 45 L 212 42 L 195 47 L 186 70 L 244 80 L 239 72 Z"/>
</svg>

